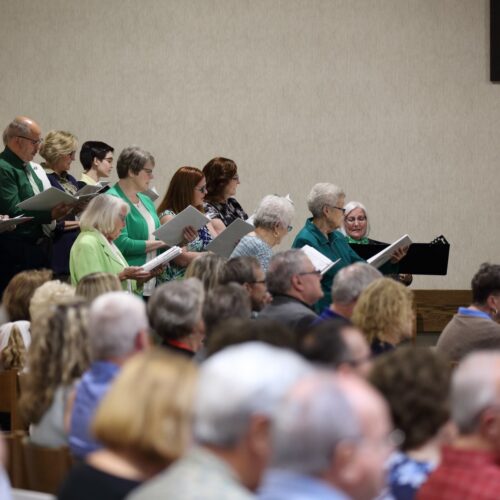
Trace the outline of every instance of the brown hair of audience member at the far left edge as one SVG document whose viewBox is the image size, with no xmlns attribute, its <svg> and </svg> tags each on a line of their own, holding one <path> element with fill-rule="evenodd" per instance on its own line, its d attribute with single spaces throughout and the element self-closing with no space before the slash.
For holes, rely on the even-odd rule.
<svg viewBox="0 0 500 500">
<path fill-rule="evenodd" d="M 50 269 L 40 269 L 22 271 L 9 281 L 2 297 L 9 321 L 30 320 L 29 307 L 33 294 L 51 278 Z"/>
</svg>

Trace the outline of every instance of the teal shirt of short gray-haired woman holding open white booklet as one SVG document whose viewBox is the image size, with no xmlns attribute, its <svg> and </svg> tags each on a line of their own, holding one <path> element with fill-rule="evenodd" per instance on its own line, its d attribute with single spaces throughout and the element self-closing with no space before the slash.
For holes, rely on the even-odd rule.
<svg viewBox="0 0 500 500">
<path fill-rule="evenodd" d="M 313 224 L 312 218 L 307 219 L 306 225 L 299 231 L 293 241 L 292 248 L 302 248 L 309 245 L 321 252 L 332 261 L 340 259 L 321 279 L 321 288 L 325 294 L 316 304 L 314 309 L 321 312 L 329 307 L 332 302 L 332 281 L 335 275 L 343 268 L 355 262 L 366 262 L 347 243 L 345 236 L 340 231 L 333 231 L 328 238 Z"/>
</svg>

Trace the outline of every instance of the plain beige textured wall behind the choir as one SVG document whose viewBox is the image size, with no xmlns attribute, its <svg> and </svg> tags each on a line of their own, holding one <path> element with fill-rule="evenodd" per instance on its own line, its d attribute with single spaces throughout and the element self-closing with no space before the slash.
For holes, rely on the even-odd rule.
<svg viewBox="0 0 500 500">
<path fill-rule="evenodd" d="M 252 211 L 313 183 L 369 208 L 372 236 L 443 233 L 466 288 L 500 261 L 500 87 L 487 0 L 3 0 L 0 126 L 16 114 L 181 165 L 233 158 Z M 74 174 L 80 173 L 77 163 Z"/>
</svg>

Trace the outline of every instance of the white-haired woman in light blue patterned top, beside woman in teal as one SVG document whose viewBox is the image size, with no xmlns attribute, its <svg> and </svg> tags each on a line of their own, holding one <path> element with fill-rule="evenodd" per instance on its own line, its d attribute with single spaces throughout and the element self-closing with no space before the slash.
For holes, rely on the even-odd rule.
<svg viewBox="0 0 500 500">
<path fill-rule="evenodd" d="M 241 238 L 231 254 L 232 257 L 254 256 L 267 272 L 273 256 L 273 247 L 292 230 L 295 209 L 287 197 L 269 195 L 261 202 L 253 220 L 255 230 Z"/>
</svg>

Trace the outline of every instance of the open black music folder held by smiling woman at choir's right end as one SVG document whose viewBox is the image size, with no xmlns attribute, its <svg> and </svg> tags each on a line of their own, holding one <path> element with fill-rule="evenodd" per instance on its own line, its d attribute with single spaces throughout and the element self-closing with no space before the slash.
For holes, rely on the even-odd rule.
<svg viewBox="0 0 500 500">
<path fill-rule="evenodd" d="M 351 243 L 350 245 L 365 260 L 389 246 L 387 243 L 379 242 L 368 245 Z M 444 276 L 448 272 L 449 255 L 450 244 L 443 235 L 434 238 L 430 243 L 412 243 L 406 256 L 399 262 L 399 272 Z"/>
</svg>

